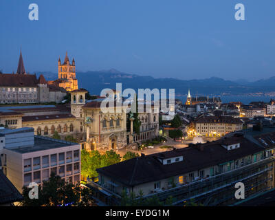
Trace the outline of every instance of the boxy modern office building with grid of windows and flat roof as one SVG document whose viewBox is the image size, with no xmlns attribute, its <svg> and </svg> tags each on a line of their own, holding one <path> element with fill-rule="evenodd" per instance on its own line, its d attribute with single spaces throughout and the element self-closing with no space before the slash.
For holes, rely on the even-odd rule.
<svg viewBox="0 0 275 220">
<path fill-rule="evenodd" d="M 34 129 L 0 129 L 3 173 L 17 190 L 31 182 L 43 184 L 56 173 L 68 182 L 80 181 L 80 144 L 35 136 Z"/>
</svg>

